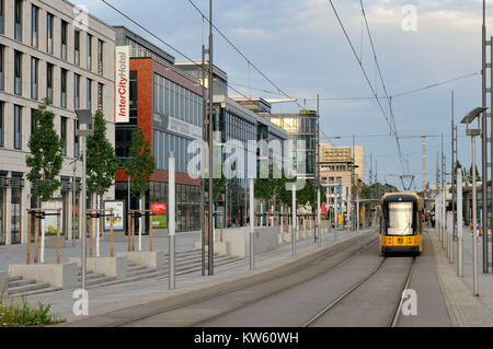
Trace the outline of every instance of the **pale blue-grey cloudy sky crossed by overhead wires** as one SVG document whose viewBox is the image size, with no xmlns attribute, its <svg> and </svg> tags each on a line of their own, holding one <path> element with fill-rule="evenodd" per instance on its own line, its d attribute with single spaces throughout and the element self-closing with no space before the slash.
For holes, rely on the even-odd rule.
<svg viewBox="0 0 493 349">
<path fill-rule="evenodd" d="M 207 42 L 208 27 L 188 0 L 107 1 L 191 58 L 202 57 L 200 47 Z M 193 1 L 208 14 L 209 1 Z M 123 24 L 148 37 L 100 0 L 78 0 L 76 3 L 87 5 L 92 14 L 111 25 Z M 362 26 L 359 0 L 333 0 L 333 3 L 371 84 L 382 96 L 368 35 Z M 481 70 L 481 0 L 365 0 L 363 3 L 389 95 Z M 417 10 L 416 31 L 402 28 L 409 14 L 402 10 L 409 4 Z M 490 8 L 486 26 L 493 25 L 493 7 Z M 328 137 L 343 136 L 332 141 L 335 146 L 351 144 L 352 135 L 356 135 L 356 143 L 365 147 L 366 179 L 372 153 L 374 162 L 378 160 L 378 179 L 399 183 L 395 177 L 385 177 L 403 173 L 394 138 L 368 137 L 390 132 L 375 98 L 323 100 L 372 96 L 328 0 L 214 0 L 214 22 L 283 91 L 299 97 L 300 104 L 305 104 L 306 98 L 307 108 L 313 109 L 317 94 L 320 94 L 321 130 Z M 176 59 L 183 59 L 162 44 L 156 44 Z M 276 91 L 253 69 L 249 70 L 246 61 L 217 34 L 214 59 L 228 73 L 230 84 L 242 93 L 276 97 L 254 90 Z M 467 112 L 481 104 L 479 74 L 398 96 L 393 101 L 400 135 L 440 136 L 444 132 L 447 167 L 450 165 L 452 90 L 458 123 Z M 382 105 L 388 113 L 385 100 Z M 277 105 L 273 112 L 297 109 L 298 106 L 290 103 Z M 440 137 L 427 139 L 427 181 L 432 184 L 435 184 L 440 142 Z M 401 144 L 404 155 L 409 156 L 410 173 L 416 175 L 415 189 L 421 189 L 422 140 L 403 139 Z M 478 147 L 478 151 L 480 149 Z M 468 166 L 470 152 L 470 140 L 465 137 L 465 128 L 459 126 L 459 160 Z"/>
</svg>

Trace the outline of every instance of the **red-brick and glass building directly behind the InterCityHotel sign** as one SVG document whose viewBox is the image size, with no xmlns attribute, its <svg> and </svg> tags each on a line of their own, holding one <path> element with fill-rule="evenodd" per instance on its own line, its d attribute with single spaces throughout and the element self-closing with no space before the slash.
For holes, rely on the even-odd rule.
<svg viewBox="0 0 493 349">
<path fill-rule="evenodd" d="M 187 174 L 192 158 L 187 147 L 202 139 L 203 88 L 199 81 L 179 69 L 174 57 L 124 26 L 115 26 L 116 45 L 130 46 L 129 121 L 116 125 L 116 153 L 125 161 L 130 154 L 131 137 L 140 127 L 150 140 L 156 171 L 149 179 L 146 209 L 168 202 L 169 152 L 176 159 L 176 231 L 199 230 L 199 179 Z M 128 201 L 128 178 L 123 168 L 116 176 L 117 200 Z M 138 208 L 130 197 L 130 208 Z M 149 221 L 146 221 L 146 231 Z M 153 228 L 168 228 L 167 220 Z"/>
</svg>

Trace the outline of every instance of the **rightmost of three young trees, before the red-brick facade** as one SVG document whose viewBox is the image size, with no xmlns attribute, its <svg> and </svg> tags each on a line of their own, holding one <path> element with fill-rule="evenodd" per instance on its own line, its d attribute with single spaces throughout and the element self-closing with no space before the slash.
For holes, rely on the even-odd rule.
<svg viewBox="0 0 493 349">
<path fill-rule="evenodd" d="M 150 149 L 150 141 L 144 137 L 144 131 L 137 127 L 131 137 L 130 156 L 125 162 L 125 174 L 130 177 L 133 197 L 140 198 L 140 208 L 146 208 L 146 191 L 149 177 L 154 172 L 156 161 Z M 144 229 L 142 224 L 140 226 Z"/>
</svg>

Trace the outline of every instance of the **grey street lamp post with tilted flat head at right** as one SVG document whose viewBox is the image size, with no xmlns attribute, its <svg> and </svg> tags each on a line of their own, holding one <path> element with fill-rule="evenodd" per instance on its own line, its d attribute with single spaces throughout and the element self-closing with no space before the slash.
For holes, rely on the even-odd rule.
<svg viewBox="0 0 493 349">
<path fill-rule="evenodd" d="M 472 270 L 473 270 L 473 294 L 479 295 L 478 286 L 478 232 L 477 232 L 477 188 L 475 188 L 475 137 L 481 136 L 481 128 L 478 119 L 478 128 L 469 128 L 469 125 L 478 118 L 478 116 L 485 112 L 488 107 L 478 107 L 471 110 L 468 115 L 463 117 L 461 124 L 467 125 L 466 135 L 471 137 L 471 158 L 472 158 Z M 484 178 L 483 178 L 484 181 Z M 485 202 L 483 197 L 483 205 Z"/>
</svg>

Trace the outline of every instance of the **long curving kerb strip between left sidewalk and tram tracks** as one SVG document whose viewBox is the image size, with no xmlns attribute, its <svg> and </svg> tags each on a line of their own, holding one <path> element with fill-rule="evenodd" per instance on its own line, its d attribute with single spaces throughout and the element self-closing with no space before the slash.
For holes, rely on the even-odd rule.
<svg viewBox="0 0 493 349">
<path fill-rule="evenodd" d="M 267 281 L 272 278 L 282 277 L 293 270 L 312 263 L 333 249 L 340 248 L 346 244 L 351 244 L 355 240 L 369 236 L 371 232 L 360 232 L 359 235 L 349 237 L 345 241 L 339 242 L 335 245 L 320 247 L 316 251 L 307 252 L 299 255 L 293 261 L 276 263 L 270 267 L 246 271 L 245 274 L 237 275 L 230 279 L 226 279 L 218 283 L 218 281 L 208 281 L 200 283 L 198 287 L 169 290 L 162 299 L 153 301 L 142 301 L 139 304 L 133 304 L 125 309 L 111 311 L 104 314 L 85 317 L 82 319 L 73 319 L 57 326 L 60 327 L 110 327 L 117 326 L 125 319 L 145 316 L 147 314 L 167 311 L 171 307 L 180 306 L 198 299 L 208 298 L 215 294 L 228 292 L 229 290 L 245 288 Z M 138 302 L 138 300 L 137 300 Z"/>
</svg>

